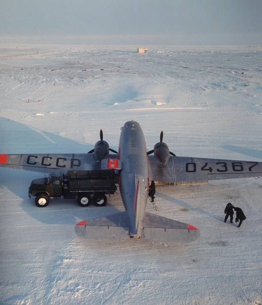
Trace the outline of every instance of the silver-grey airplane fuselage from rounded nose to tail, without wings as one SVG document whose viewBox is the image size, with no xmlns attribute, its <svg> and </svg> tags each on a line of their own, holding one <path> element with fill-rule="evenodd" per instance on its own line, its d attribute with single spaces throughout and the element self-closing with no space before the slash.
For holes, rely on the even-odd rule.
<svg viewBox="0 0 262 305">
<path fill-rule="evenodd" d="M 145 137 L 136 121 L 128 121 L 122 127 L 119 159 L 122 164 L 119 188 L 130 219 L 130 236 L 139 238 L 144 235 L 149 169 Z"/>
</svg>

